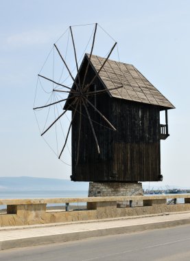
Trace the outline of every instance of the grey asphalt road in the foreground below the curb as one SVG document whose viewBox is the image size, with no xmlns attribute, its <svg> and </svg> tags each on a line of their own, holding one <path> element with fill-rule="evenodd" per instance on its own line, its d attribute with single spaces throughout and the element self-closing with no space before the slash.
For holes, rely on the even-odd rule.
<svg viewBox="0 0 190 261">
<path fill-rule="evenodd" d="M 1 261 L 190 260 L 190 225 L 5 250 Z"/>
</svg>

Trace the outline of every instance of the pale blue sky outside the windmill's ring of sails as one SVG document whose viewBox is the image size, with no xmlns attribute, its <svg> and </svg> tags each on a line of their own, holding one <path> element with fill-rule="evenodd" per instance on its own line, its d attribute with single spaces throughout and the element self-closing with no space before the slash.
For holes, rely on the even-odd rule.
<svg viewBox="0 0 190 261">
<path fill-rule="evenodd" d="M 120 60 L 139 69 L 176 106 L 169 110 L 170 136 L 161 141 L 164 181 L 158 185 L 190 186 L 189 1 L 0 3 L 1 177 L 69 179 L 71 167 L 58 160 L 38 131 L 32 109 L 37 74 L 69 25 L 99 23 L 116 39 Z M 103 46 L 96 45 L 97 51 Z"/>
</svg>

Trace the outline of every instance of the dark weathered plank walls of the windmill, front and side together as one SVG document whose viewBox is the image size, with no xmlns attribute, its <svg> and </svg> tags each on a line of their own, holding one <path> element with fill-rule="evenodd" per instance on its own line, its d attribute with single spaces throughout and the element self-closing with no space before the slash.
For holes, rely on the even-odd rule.
<svg viewBox="0 0 190 261">
<path fill-rule="evenodd" d="M 89 70 L 88 77 L 94 75 Z M 103 89 L 102 82 L 95 82 Z M 110 98 L 108 93 L 89 98 L 97 109 L 117 128 L 112 131 L 95 110 L 88 105 L 99 142 L 97 153 L 95 139 L 84 106 L 80 157 L 76 166 L 79 135 L 79 113 L 72 126 L 72 176 L 73 181 L 158 181 L 161 174 L 159 107 L 139 102 Z M 87 105 L 87 104 L 86 104 Z"/>
</svg>

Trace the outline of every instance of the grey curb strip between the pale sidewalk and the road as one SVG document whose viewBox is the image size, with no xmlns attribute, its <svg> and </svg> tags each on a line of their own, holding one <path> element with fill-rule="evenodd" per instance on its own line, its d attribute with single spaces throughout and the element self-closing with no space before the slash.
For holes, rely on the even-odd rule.
<svg viewBox="0 0 190 261">
<path fill-rule="evenodd" d="M 136 233 L 145 230 L 164 229 L 164 228 L 176 227 L 179 225 L 188 225 L 188 224 L 190 224 L 190 218 L 185 218 L 181 220 L 169 220 L 169 221 L 163 221 L 157 223 L 148 223 L 143 225 L 111 227 L 111 228 L 97 229 L 91 231 L 79 231 L 79 232 L 68 233 L 68 234 L 56 234 L 50 236 L 36 236 L 33 238 L 5 240 L 0 242 L 0 250 L 68 242 L 72 240 L 82 240 L 86 238 L 94 238 L 99 236 L 130 234 L 130 233 Z"/>
</svg>

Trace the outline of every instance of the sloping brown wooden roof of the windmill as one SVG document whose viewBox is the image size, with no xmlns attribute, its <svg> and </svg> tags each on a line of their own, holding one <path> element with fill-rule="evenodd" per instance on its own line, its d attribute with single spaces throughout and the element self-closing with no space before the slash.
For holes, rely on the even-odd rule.
<svg viewBox="0 0 190 261">
<path fill-rule="evenodd" d="M 91 65 L 95 71 L 99 70 L 104 60 L 106 59 L 99 56 L 91 56 Z M 167 109 L 175 108 L 133 65 L 107 60 L 99 72 L 99 77 L 107 89 L 123 86 L 120 89 L 110 90 L 112 97 L 154 104 L 167 107 Z"/>
</svg>

